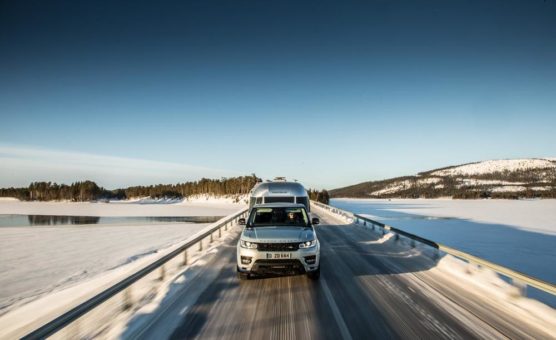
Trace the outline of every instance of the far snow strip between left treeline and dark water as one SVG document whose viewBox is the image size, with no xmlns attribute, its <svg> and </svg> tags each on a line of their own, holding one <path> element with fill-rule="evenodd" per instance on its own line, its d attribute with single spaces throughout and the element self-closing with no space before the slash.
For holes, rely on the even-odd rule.
<svg viewBox="0 0 556 340">
<path fill-rule="evenodd" d="M 20 202 L 0 201 L 0 214 L 59 216 L 226 216 L 244 206 L 232 197 L 197 197 L 191 200 L 106 202 Z"/>
</svg>

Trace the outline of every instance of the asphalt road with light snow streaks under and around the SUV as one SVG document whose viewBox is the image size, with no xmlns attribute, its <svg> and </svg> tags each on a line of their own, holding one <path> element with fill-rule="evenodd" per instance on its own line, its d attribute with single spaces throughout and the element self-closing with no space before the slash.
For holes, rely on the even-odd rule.
<svg viewBox="0 0 556 340">
<path fill-rule="evenodd" d="M 427 271 L 430 257 L 321 216 L 321 279 L 239 281 L 235 242 L 124 337 L 172 339 L 547 339 L 497 304 Z"/>
</svg>

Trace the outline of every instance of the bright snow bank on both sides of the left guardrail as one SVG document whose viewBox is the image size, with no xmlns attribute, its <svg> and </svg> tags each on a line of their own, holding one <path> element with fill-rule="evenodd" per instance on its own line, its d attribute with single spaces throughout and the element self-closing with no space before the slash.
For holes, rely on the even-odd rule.
<svg viewBox="0 0 556 340">
<path fill-rule="evenodd" d="M 239 210 L 241 209 L 242 208 Z M 122 278 L 136 272 L 138 269 L 174 251 L 177 247 L 187 242 L 187 240 L 194 239 L 198 235 L 206 233 L 207 230 L 213 228 L 218 223 L 219 222 L 204 225 L 201 230 L 192 233 L 189 237 L 180 242 L 153 251 L 151 254 L 139 257 L 131 263 L 105 271 L 93 278 L 80 281 L 73 286 L 50 292 L 39 299 L 0 316 L 0 339 L 20 337 L 27 334 L 29 331 L 51 320 L 54 316 L 60 315 L 62 312 L 67 311 L 105 290 Z M 139 309 L 143 311 L 143 307 L 146 307 L 147 310 L 149 308 L 154 308 L 153 306 L 156 307 L 161 302 L 161 299 L 168 293 L 170 285 L 180 281 L 180 275 L 184 270 L 194 274 L 199 268 L 203 268 L 203 258 L 205 254 L 217 252 L 216 248 L 222 244 L 222 242 L 235 237 L 235 234 L 237 234 L 237 228 L 229 227 L 228 231 L 222 230 L 221 238 L 218 237 L 218 233 L 215 233 L 213 242 L 209 243 L 208 239 L 203 240 L 203 250 L 199 250 L 196 246 L 188 249 L 188 266 L 186 267 L 183 266 L 183 256 L 177 256 L 173 260 L 167 262 L 164 266 L 165 274 L 163 279 L 161 279 L 160 270 L 157 270 L 140 279 L 133 285 L 132 293 L 130 293 L 130 297 L 133 301 L 133 306 L 131 308 L 124 307 L 122 294 L 125 296 L 126 293 L 120 293 L 109 300 L 108 303 L 101 305 L 101 308 L 96 308 L 92 313 L 86 314 L 85 320 L 93 318 L 93 320 L 97 319 L 96 321 L 88 324 L 87 321 L 84 323 L 84 321 L 80 319 L 78 322 L 79 332 L 91 331 L 91 329 L 87 327 L 92 326 L 93 334 L 95 334 L 94 332 L 108 331 L 112 334 L 108 335 L 108 338 L 115 338 L 116 335 L 114 331 L 121 332 L 122 327 L 126 325 L 129 318 Z M 99 322 L 98 319 L 101 319 L 102 322 Z M 66 333 L 61 333 L 62 338 L 76 336 L 73 329 L 70 328 L 69 332 L 69 336 Z"/>
</svg>

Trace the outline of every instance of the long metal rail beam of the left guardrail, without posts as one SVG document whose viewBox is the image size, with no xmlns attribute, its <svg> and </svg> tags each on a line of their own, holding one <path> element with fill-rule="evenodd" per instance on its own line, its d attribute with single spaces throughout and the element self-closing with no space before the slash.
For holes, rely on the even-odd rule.
<svg viewBox="0 0 556 340">
<path fill-rule="evenodd" d="M 56 317 L 52 321 L 44 324 L 43 326 L 37 328 L 36 330 L 32 331 L 31 333 L 22 337 L 22 339 L 30 340 L 30 339 L 44 339 L 47 338 L 56 332 L 62 330 L 64 327 L 71 324 L 73 321 L 77 320 L 81 316 L 87 314 L 95 307 L 101 305 L 108 299 L 112 298 L 116 294 L 122 292 L 139 279 L 143 278 L 144 276 L 150 274 L 154 270 L 163 266 L 166 262 L 174 259 L 176 256 L 179 256 L 187 249 L 191 248 L 195 244 L 202 242 L 205 238 L 209 237 L 215 231 L 227 226 L 230 222 L 236 222 L 237 219 L 242 217 L 247 213 L 248 209 L 243 209 L 233 216 L 225 219 L 224 221 L 218 222 L 213 228 L 208 230 L 207 232 L 197 236 L 193 240 L 188 241 L 187 243 L 183 244 L 179 248 L 173 250 L 172 252 L 166 254 L 165 256 L 159 258 L 158 260 L 154 261 L 153 263 L 139 269 L 134 274 L 124 278 L 123 280 L 119 281 L 118 283 L 114 284 L 113 286 L 109 287 L 108 289 L 100 292 L 99 294 L 93 296 L 92 298 L 88 299 L 87 301 L 77 305 L 76 307 L 72 308 L 71 310 L 67 311 L 66 313 Z"/>
</svg>

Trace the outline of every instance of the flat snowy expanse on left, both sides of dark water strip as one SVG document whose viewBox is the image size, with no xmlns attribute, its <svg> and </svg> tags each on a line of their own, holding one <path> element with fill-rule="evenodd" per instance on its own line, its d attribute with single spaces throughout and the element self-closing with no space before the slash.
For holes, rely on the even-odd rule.
<svg viewBox="0 0 556 340">
<path fill-rule="evenodd" d="M 163 204 L 164 203 L 164 204 Z M 224 216 L 244 207 L 232 199 L 118 203 L 19 202 L 0 214 L 72 216 Z M 187 239 L 206 223 L 0 227 L 0 315 Z"/>
</svg>

